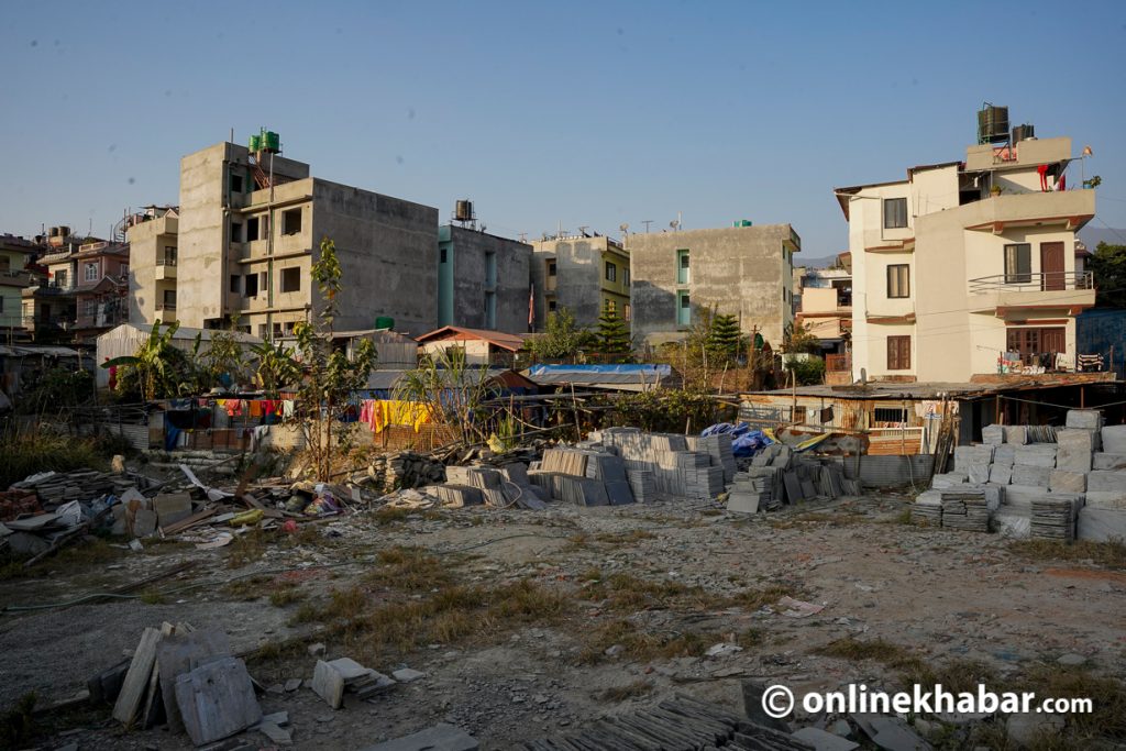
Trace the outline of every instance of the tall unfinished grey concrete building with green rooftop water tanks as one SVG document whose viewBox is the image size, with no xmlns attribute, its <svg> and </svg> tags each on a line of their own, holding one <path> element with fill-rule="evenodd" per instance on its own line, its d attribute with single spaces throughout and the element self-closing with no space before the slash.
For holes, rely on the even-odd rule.
<svg viewBox="0 0 1126 751">
<path fill-rule="evenodd" d="M 236 321 L 259 337 L 285 337 L 321 303 L 310 275 L 329 238 L 342 270 L 338 329 L 434 329 L 438 211 L 312 178 L 309 164 L 279 155 L 276 134 L 266 135 L 251 140 L 254 151 L 220 143 L 181 160 L 175 297 L 159 280 L 148 296 L 172 302 L 186 327 Z M 163 258 L 137 260 L 138 295 Z M 155 304 L 137 304 L 134 322 L 150 323 L 150 311 Z"/>
</svg>

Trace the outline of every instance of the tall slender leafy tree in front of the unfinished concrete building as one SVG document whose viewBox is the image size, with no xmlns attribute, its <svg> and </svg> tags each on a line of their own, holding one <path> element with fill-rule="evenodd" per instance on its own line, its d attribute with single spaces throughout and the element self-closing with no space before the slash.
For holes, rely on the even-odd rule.
<svg viewBox="0 0 1126 751">
<path fill-rule="evenodd" d="M 369 339 L 357 345 L 355 357 L 350 360 L 332 346 L 341 276 L 336 244 L 324 238 L 321 240 L 320 258 L 312 268 L 313 281 L 320 292 L 316 321 L 294 327 L 297 354 L 304 370 L 297 390 L 302 408 L 298 422 L 313 473 L 322 482 L 332 476 L 336 448 L 347 449 L 351 436 L 349 423 L 341 422 L 340 418 L 350 406 L 352 393 L 367 386 L 367 378 L 375 367 L 375 345 Z"/>
</svg>

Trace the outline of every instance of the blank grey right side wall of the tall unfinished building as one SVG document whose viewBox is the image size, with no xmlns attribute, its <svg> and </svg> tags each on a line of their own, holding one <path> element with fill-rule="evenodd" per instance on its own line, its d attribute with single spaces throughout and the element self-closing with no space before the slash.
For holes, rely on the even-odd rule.
<svg viewBox="0 0 1126 751">
<path fill-rule="evenodd" d="M 337 328 L 381 315 L 403 333 L 437 328 L 438 209 L 320 179 L 313 200 L 313 240 L 331 238 L 343 270 Z"/>
</svg>

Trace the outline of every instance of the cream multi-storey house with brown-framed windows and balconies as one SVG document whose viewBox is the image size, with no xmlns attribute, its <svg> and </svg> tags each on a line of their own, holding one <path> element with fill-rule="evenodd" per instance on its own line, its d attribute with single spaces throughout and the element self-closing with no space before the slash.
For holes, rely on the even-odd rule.
<svg viewBox="0 0 1126 751">
<path fill-rule="evenodd" d="M 1067 137 L 969 146 L 964 162 L 835 190 L 849 223 L 854 378 L 1074 368 L 1075 316 L 1094 304 L 1075 232 L 1094 216 L 1094 190 L 1066 185 L 1071 153 Z"/>
</svg>

